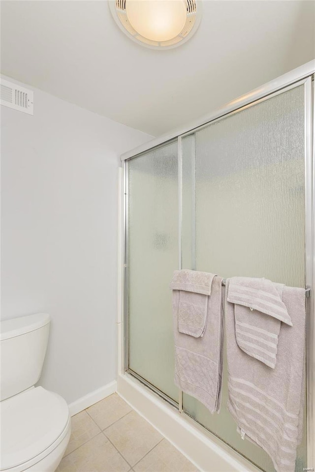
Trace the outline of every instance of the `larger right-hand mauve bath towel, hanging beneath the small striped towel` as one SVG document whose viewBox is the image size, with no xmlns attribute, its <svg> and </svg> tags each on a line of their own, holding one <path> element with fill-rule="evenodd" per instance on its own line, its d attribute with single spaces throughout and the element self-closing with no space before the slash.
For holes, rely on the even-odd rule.
<svg viewBox="0 0 315 472">
<path fill-rule="evenodd" d="M 262 447 L 270 455 L 278 472 L 294 472 L 296 447 L 302 437 L 305 290 L 283 287 L 282 301 L 292 326 L 281 324 L 274 369 L 240 349 L 236 340 L 236 305 L 227 299 L 229 281 L 226 293 L 228 410 L 242 437 L 248 436 Z M 248 311 L 251 311 L 250 308 Z M 251 312 L 252 318 L 255 314 Z M 266 331 L 269 332 L 269 328 Z M 260 336 L 261 332 L 257 333 Z"/>
</svg>

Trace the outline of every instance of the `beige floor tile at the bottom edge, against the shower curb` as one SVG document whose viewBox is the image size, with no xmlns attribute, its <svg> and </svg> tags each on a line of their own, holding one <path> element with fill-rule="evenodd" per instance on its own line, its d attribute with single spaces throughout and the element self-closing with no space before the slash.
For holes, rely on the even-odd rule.
<svg viewBox="0 0 315 472">
<path fill-rule="evenodd" d="M 133 469 L 135 472 L 197 472 L 195 466 L 166 439 L 159 442 Z"/>
</svg>

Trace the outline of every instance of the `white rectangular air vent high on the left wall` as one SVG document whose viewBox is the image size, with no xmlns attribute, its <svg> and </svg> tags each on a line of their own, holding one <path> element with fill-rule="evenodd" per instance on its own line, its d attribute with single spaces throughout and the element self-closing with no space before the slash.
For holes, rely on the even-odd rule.
<svg viewBox="0 0 315 472">
<path fill-rule="evenodd" d="M 19 110 L 20 112 L 34 114 L 34 93 L 32 90 L 24 89 L 13 82 L 1 79 L 0 81 L 0 104 L 5 107 Z"/>
</svg>

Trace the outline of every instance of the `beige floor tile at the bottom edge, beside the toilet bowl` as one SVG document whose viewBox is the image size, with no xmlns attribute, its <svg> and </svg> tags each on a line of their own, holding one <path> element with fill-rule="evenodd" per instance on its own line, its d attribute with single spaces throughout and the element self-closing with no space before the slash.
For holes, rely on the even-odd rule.
<svg viewBox="0 0 315 472">
<path fill-rule="evenodd" d="M 64 457 L 56 472 L 127 472 L 129 470 L 129 464 L 103 433 L 99 433 Z"/>
</svg>

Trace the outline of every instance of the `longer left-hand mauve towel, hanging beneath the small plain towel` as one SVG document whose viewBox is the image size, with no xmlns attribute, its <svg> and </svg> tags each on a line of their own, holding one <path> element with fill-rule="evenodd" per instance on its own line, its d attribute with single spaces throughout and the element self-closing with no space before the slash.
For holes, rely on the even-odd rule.
<svg viewBox="0 0 315 472">
<path fill-rule="evenodd" d="M 177 272 L 177 271 L 176 271 Z M 183 277 L 187 277 L 188 271 Z M 192 271 L 189 271 L 192 272 Z M 221 378 L 222 378 L 222 316 L 221 316 L 221 277 L 213 276 L 212 285 L 204 284 L 204 272 L 194 272 L 201 290 L 208 291 L 206 324 L 201 337 L 193 337 L 179 332 L 178 312 L 180 290 L 173 282 L 173 322 L 175 342 L 175 376 L 176 385 L 185 393 L 197 398 L 211 413 L 220 411 Z M 174 274 L 175 276 L 176 274 Z M 212 274 L 207 274 L 211 275 Z M 174 279 L 173 279 L 174 280 Z M 209 280 L 209 279 L 208 279 Z M 178 283 L 178 282 L 175 282 Z M 189 282 L 184 282 L 189 286 Z M 190 284 L 191 285 L 191 284 Z M 175 285 L 175 287 L 183 287 Z M 191 288 L 191 287 L 190 287 Z M 196 288 L 195 288 L 196 289 Z M 188 293 L 188 292 L 187 292 Z M 194 295 L 192 293 L 191 295 Z M 203 294 L 205 295 L 205 294 Z"/>
</svg>

